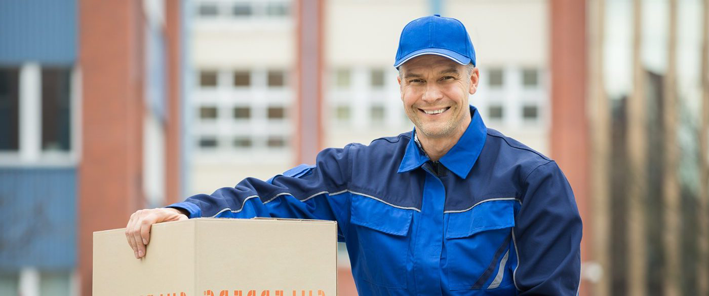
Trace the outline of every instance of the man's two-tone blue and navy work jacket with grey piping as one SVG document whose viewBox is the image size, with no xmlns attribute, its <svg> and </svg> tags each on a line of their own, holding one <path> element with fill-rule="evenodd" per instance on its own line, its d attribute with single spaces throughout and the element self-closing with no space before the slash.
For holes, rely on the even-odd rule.
<svg viewBox="0 0 709 296">
<path fill-rule="evenodd" d="M 335 220 L 359 295 L 576 295 L 581 218 L 569 182 L 470 111 L 437 163 L 412 131 L 169 207 L 190 218 Z"/>
</svg>

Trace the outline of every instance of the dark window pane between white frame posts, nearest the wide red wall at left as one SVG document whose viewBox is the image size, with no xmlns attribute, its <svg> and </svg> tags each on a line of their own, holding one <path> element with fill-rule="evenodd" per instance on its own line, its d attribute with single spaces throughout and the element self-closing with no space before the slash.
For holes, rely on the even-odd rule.
<svg viewBox="0 0 709 296">
<path fill-rule="evenodd" d="M 69 68 L 42 70 L 42 149 L 69 150 L 71 143 L 71 77 Z"/>
</svg>

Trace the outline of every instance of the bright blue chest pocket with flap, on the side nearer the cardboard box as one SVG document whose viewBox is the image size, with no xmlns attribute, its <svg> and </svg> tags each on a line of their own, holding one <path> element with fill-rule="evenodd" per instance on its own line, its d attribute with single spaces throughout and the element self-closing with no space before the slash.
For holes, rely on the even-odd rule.
<svg viewBox="0 0 709 296">
<path fill-rule="evenodd" d="M 351 211 L 350 225 L 358 239 L 353 273 L 374 285 L 406 288 L 413 210 L 352 194 Z"/>
</svg>

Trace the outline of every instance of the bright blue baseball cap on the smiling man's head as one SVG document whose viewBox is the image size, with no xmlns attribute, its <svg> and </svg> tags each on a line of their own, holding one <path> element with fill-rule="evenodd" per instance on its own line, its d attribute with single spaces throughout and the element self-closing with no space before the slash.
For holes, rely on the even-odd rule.
<svg viewBox="0 0 709 296">
<path fill-rule="evenodd" d="M 439 14 L 417 18 L 403 27 L 394 67 L 419 55 L 442 55 L 460 65 L 476 65 L 475 49 L 463 23 Z"/>
</svg>

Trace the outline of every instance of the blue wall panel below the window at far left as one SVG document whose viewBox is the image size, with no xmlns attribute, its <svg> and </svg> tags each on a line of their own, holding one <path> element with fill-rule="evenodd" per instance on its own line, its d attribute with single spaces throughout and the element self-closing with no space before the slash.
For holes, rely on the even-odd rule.
<svg viewBox="0 0 709 296">
<path fill-rule="evenodd" d="M 0 271 L 77 261 L 77 170 L 0 168 Z"/>
</svg>

